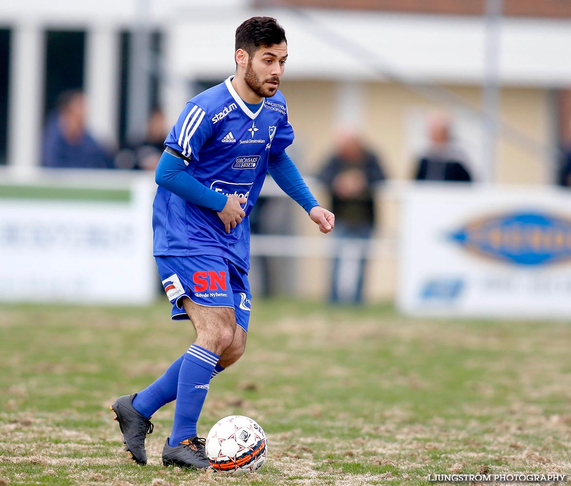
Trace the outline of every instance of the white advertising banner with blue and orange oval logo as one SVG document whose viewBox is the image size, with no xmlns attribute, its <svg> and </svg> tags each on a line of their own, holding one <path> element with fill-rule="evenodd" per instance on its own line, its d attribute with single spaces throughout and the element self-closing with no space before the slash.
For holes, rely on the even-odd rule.
<svg viewBox="0 0 571 486">
<path fill-rule="evenodd" d="M 409 314 L 571 318 L 571 192 L 419 184 L 399 259 Z"/>
</svg>

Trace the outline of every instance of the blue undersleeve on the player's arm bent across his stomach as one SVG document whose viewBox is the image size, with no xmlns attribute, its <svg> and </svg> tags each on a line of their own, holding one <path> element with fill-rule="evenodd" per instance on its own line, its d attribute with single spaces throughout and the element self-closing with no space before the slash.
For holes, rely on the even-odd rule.
<svg viewBox="0 0 571 486">
<path fill-rule="evenodd" d="M 182 155 L 172 154 L 172 150 L 164 151 L 156 166 L 155 182 L 172 194 L 198 206 L 207 207 L 213 211 L 222 211 L 228 198 L 198 182 L 188 172 Z"/>
</svg>

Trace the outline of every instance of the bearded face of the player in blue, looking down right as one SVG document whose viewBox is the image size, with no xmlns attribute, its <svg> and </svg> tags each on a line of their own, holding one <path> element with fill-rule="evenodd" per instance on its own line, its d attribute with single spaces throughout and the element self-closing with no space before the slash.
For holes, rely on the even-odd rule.
<svg viewBox="0 0 571 486">
<path fill-rule="evenodd" d="M 248 58 L 244 81 L 256 95 L 270 98 L 276 94 L 287 59 L 285 42 L 260 47 Z"/>
</svg>

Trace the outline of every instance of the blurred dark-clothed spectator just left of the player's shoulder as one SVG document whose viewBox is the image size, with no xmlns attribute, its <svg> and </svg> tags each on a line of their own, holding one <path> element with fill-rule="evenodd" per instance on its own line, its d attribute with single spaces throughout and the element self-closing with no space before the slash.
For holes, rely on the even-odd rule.
<svg viewBox="0 0 571 486">
<path fill-rule="evenodd" d="M 122 148 L 115 156 L 115 166 L 123 169 L 154 171 L 164 151 L 167 134 L 164 113 L 160 108 L 155 108 L 148 118 L 144 139 Z"/>
</svg>

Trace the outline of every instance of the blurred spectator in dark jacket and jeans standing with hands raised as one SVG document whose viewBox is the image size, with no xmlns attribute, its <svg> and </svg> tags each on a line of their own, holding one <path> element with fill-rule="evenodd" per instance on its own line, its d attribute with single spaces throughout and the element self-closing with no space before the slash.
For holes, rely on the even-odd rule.
<svg viewBox="0 0 571 486">
<path fill-rule="evenodd" d="M 336 140 L 335 154 L 317 175 L 331 193 L 335 214 L 331 301 L 359 303 L 368 242 L 375 226 L 375 183 L 385 175 L 377 156 L 357 134 L 341 132 Z"/>
</svg>

